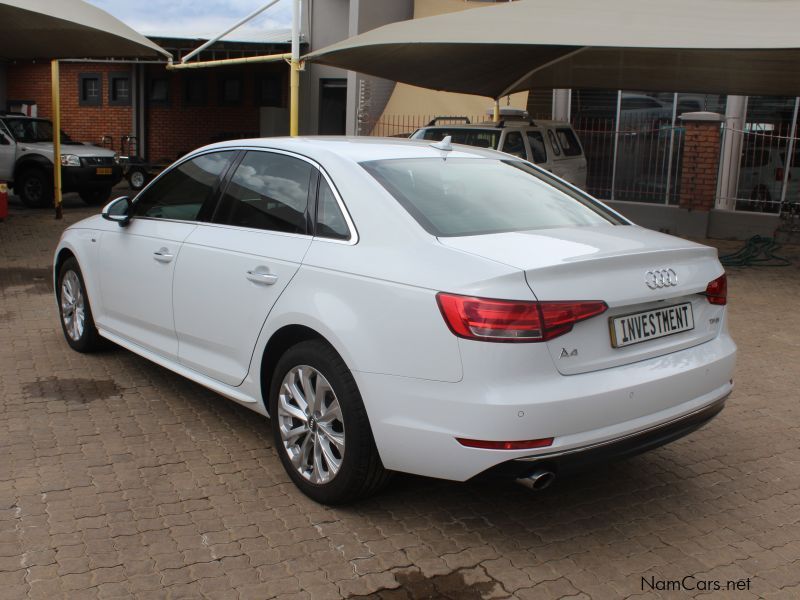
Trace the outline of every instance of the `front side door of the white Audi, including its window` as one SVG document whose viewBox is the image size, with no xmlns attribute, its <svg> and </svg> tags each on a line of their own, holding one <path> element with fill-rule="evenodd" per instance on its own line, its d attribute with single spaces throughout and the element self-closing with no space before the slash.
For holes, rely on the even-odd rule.
<svg viewBox="0 0 800 600">
<path fill-rule="evenodd" d="M 100 328 L 175 360 L 172 281 L 186 237 L 203 219 L 236 153 L 204 154 L 166 172 L 140 194 L 127 227 L 100 239 Z"/>
</svg>

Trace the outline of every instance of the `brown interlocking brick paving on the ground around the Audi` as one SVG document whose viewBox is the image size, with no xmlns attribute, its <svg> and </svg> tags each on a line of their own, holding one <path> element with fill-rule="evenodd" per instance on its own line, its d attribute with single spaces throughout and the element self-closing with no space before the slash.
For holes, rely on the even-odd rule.
<svg viewBox="0 0 800 600">
<path fill-rule="evenodd" d="M 51 253 L 91 212 L 0 224 L 0 598 L 800 597 L 797 266 L 729 271 L 737 387 L 694 435 L 538 494 L 402 476 L 327 508 L 255 413 L 68 349 Z M 658 591 L 685 576 L 750 589 Z"/>
</svg>

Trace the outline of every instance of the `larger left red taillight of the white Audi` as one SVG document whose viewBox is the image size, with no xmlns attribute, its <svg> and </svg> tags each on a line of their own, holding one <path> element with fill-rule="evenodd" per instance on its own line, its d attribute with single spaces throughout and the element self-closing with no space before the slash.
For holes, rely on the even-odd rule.
<svg viewBox="0 0 800 600">
<path fill-rule="evenodd" d="M 528 302 L 439 293 L 436 301 L 454 334 L 490 342 L 544 342 L 608 309 L 600 300 Z"/>
</svg>

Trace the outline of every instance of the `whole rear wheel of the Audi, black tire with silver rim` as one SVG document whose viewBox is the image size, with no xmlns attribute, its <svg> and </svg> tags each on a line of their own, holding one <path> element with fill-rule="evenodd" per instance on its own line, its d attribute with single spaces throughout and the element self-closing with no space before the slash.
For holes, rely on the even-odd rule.
<svg viewBox="0 0 800 600">
<path fill-rule="evenodd" d="M 327 390 L 312 411 L 320 386 Z M 312 397 L 310 403 L 305 402 L 307 397 Z M 312 500 L 352 502 L 374 494 L 389 480 L 353 375 L 322 340 L 300 342 L 278 361 L 270 385 L 269 414 L 283 467 Z M 287 435 L 291 431 L 294 436 Z"/>
</svg>

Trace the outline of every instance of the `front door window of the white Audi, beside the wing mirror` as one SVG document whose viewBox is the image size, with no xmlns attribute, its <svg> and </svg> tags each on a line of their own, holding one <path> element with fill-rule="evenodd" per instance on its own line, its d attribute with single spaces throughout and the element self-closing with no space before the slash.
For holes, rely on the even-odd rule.
<svg viewBox="0 0 800 600">
<path fill-rule="evenodd" d="M 210 202 L 219 180 L 236 152 L 203 154 L 167 171 L 152 186 L 139 194 L 133 213 L 153 219 L 198 219 L 204 204 Z"/>
</svg>

